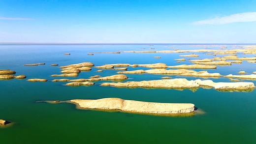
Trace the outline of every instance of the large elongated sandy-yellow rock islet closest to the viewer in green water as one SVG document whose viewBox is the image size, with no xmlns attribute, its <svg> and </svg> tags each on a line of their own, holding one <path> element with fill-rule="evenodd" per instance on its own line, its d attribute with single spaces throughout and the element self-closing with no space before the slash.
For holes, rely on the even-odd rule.
<svg viewBox="0 0 256 144">
<path fill-rule="evenodd" d="M 194 104 L 191 103 L 156 103 L 120 98 L 74 99 L 67 102 L 75 104 L 79 109 L 121 111 L 150 115 L 188 114 L 195 111 Z"/>
</svg>

